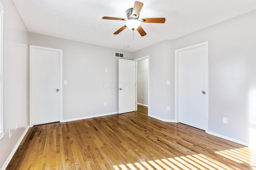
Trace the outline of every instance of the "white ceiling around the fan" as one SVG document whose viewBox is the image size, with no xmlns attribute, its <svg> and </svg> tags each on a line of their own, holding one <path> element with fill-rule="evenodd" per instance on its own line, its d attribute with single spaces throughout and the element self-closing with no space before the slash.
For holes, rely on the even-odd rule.
<svg viewBox="0 0 256 170">
<path fill-rule="evenodd" d="M 29 32 L 81 41 L 105 47 L 137 51 L 166 39 L 175 39 L 256 9 L 256 0 L 139 0 L 140 18 L 165 17 L 165 23 L 141 23 L 141 37 L 126 28 L 113 33 L 125 21 L 134 0 L 12 0 Z M 124 48 L 129 45 L 129 48 Z"/>
</svg>

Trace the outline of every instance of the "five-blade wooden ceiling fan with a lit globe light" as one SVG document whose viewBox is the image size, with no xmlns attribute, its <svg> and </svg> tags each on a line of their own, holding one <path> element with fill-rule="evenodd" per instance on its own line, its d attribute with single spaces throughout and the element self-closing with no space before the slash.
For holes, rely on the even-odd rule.
<svg viewBox="0 0 256 170">
<path fill-rule="evenodd" d="M 143 6 L 142 2 L 135 1 L 134 7 L 129 8 L 128 10 L 126 10 L 127 19 L 126 18 L 106 17 L 106 16 L 102 17 L 102 19 L 127 21 L 126 24 L 124 26 L 122 26 L 120 29 L 118 29 L 116 32 L 114 32 L 114 34 L 119 34 L 121 31 L 126 29 L 126 27 L 128 27 L 132 31 L 137 29 L 137 31 L 140 33 L 140 35 L 144 36 L 144 35 L 146 35 L 146 32 L 140 26 L 140 22 L 144 22 L 144 23 L 164 23 L 165 18 L 141 18 L 139 20 L 140 10 L 142 9 L 142 6 Z"/>
</svg>

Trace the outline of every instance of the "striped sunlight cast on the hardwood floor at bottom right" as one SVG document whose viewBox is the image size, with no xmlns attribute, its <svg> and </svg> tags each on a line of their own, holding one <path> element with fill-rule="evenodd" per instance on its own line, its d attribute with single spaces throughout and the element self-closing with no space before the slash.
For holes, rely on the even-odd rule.
<svg viewBox="0 0 256 170">
<path fill-rule="evenodd" d="M 121 164 L 113 167 L 115 170 L 232 170 L 237 169 L 237 167 L 232 166 L 232 161 L 234 161 L 244 166 L 244 168 L 249 166 L 250 169 L 256 170 L 256 151 L 251 148 L 220 150 L 215 153 L 219 155 L 218 160 L 224 160 L 231 165 L 228 166 L 204 154 L 193 154 L 147 162 Z M 228 160 L 225 160 L 226 158 Z"/>
</svg>

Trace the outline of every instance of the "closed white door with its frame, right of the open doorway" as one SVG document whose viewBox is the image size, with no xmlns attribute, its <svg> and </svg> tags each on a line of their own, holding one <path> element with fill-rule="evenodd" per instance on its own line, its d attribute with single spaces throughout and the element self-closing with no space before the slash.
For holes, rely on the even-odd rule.
<svg viewBox="0 0 256 170">
<path fill-rule="evenodd" d="M 206 130 L 208 115 L 208 43 L 176 50 L 178 122 Z"/>
</svg>

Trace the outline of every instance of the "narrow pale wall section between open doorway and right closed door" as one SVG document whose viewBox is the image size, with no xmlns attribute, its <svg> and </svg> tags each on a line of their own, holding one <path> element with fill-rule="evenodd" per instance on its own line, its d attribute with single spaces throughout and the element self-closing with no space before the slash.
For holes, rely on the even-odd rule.
<svg viewBox="0 0 256 170">
<path fill-rule="evenodd" d="M 174 121 L 174 45 L 162 41 L 134 52 L 134 59 L 149 55 L 149 113 L 163 121 Z M 173 65 L 173 67 L 172 67 Z M 171 81 L 167 85 L 167 80 Z M 170 94 L 170 95 L 169 95 Z M 167 111 L 170 106 L 171 111 Z"/>
</svg>

